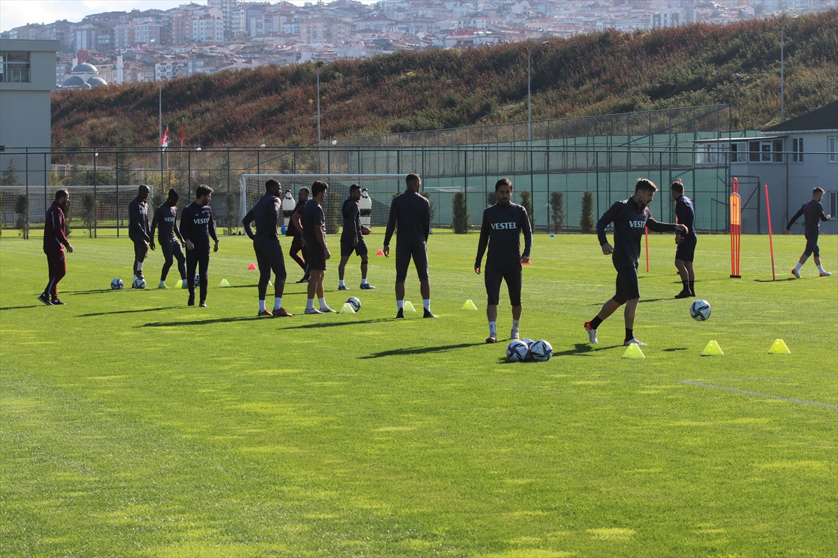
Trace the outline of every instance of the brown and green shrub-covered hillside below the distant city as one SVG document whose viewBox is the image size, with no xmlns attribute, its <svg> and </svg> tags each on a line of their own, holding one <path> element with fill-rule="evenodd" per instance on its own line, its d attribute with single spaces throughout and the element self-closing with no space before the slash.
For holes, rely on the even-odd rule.
<svg viewBox="0 0 838 558">
<path fill-rule="evenodd" d="M 733 129 L 779 122 L 783 19 L 554 38 L 532 55 L 533 120 L 732 104 Z M 532 42 L 341 60 L 320 73 L 322 136 L 526 120 Z M 316 66 L 163 83 L 163 125 L 190 146 L 304 146 L 317 135 Z M 838 10 L 786 26 L 787 118 L 838 98 Z M 54 146 L 155 146 L 158 84 L 56 92 Z"/>
</svg>

